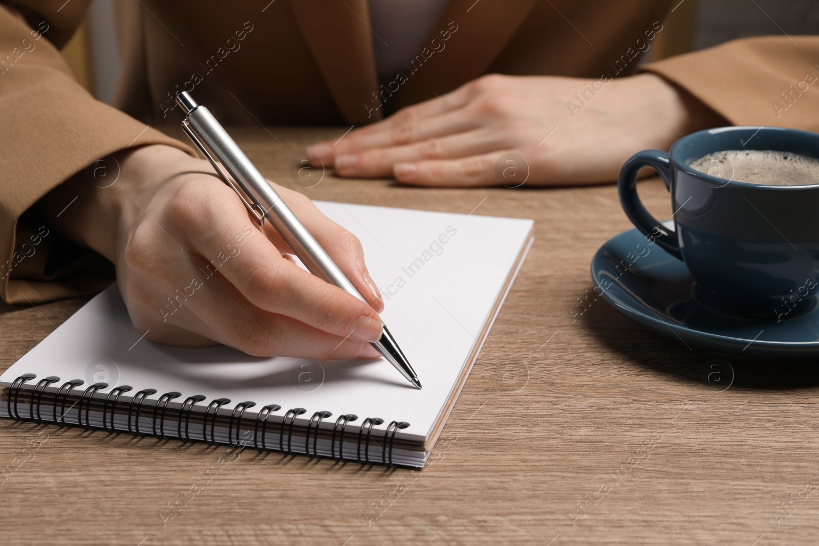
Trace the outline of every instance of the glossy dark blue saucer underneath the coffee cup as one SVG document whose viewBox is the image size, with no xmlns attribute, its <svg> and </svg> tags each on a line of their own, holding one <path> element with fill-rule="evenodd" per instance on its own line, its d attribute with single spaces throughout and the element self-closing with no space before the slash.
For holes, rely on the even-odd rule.
<svg viewBox="0 0 819 546">
<path fill-rule="evenodd" d="M 673 226 L 670 226 L 673 228 Z M 643 326 L 711 350 L 748 356 L 819 354 L 819 305 L 780 322 L 721 313 L 700 302 L 686 265 L 636 229 L 609 239 L 591 260 L 594 294 Z"/>
</svg>

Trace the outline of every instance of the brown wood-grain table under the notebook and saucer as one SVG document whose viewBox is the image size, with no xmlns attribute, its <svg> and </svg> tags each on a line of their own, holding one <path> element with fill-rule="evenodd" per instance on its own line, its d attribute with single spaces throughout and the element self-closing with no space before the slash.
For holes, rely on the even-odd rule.
<svg viewBox="0 0 819 546">
<path fill-rule="evenodd" d="M 234 132 L 269 178 L 298 187 L 291 161 L 306 142 L 339 132 L 271 133 L 285 144 L 263 129 Z M 536 221 L 428 467 L 248 449 L 207 481 L 227 447 L 2 420 L 0 468 L 48 438 L 0 478 L 3 544 L 817 543 L 813 363 L 690 350 L 602 299 L 572 317 L 592 287 L 591 256 L 631 227 L 613 186 L 419 189 L 328 172 L 304 192 Z M 640 192 L 654 214 L 670 216 L 661 183 Z M 2 306 L 3 369 L 84 301 Z M 192 484 L 201 490 L 163 526 L 161 513 L 190 498 Z"/>
</svg>

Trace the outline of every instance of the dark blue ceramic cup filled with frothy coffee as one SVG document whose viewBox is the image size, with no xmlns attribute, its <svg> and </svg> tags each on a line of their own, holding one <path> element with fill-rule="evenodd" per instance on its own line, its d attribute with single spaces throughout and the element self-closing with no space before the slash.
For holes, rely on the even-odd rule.
<svg viewBox="0 0 819 546">
<path fill-rule="evenodd" d="M 775 186 L 708 174 L 690 163 L 724 150 L 788 151 L 819 159 L 819 134 L 774 127 L 724 127 L 690 134 L 670 152 L 640 151 L 622 166 L 623 210 L 658 246 L 686 263 L 695 297 L 731 314 L 781 321 L 819 295 L 819 184 Z M 651 167 L 671 192 L 673 231 L 640 203 L 637 172 Z"/>
</svg>

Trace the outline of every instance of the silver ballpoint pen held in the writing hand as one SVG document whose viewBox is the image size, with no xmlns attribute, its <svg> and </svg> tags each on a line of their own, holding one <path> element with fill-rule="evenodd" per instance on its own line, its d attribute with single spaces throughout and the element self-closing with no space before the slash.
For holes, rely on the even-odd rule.
<svg viewBox="0 0 819 546">
<path fill-rule="evenodd" d="M 176 103 L 185 114 L 182 129 L 202 154 L 210 160 L 210 164 L 214 166 L 224 183 L 238 194 L 251 217 L 259 225 L 264 225 L 265 219 L 268 219 L 270 225 L 296 252 L 310 273 L 366 303 L 359 291 L 355 290 L 350 279 L 346 278 L 342 270 L 319 245 L 319 241 L 316 241 L 296 218 L 296 214 L 293 214 L 290 207 L 270 186 L 267 178 L 259 172 L 259 169 L 256 169 L 251 160 L 247 159 L 247 156 L 236 142 L 233 142 L 233 138 L 230 138 L 210 111 L 205 106 L 198 105 L 184 91 L 176 96 Z M 418 375 L 409 365 L 409 360 L 401 352 L 395 338 L 387 330 L 387 325 L 383 327 L 381 339 L 373 342 L 373 347 L 389 360 L 401 372 L 401 375 L 406 377 L 407 381 L 416 388 L 421 388 Z"/>
</svg>

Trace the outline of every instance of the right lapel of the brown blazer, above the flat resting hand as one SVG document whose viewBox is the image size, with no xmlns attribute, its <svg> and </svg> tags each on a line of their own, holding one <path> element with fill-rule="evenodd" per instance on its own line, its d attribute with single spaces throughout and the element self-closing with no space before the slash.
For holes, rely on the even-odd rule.
<svg viewBox="0 0 819 546">
<path fill-rule="evenodd" d="M 396 107 L 448 93 L 483 74 L 536 2 L 450 0 L 424 42 L 429 57 L 422 55 L 423 65 L 415 63 L 410 67 L 414 70 L 405 73 L 406 82 L 396 93 Z M 449 31 L 449 39 L 443 41 L 441 31 Z M 433 38 L 438 45 L 432 43 Z M 430 55 L 433 46 L 440 51 Z"/>
</svg>

